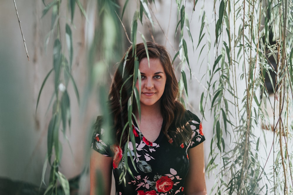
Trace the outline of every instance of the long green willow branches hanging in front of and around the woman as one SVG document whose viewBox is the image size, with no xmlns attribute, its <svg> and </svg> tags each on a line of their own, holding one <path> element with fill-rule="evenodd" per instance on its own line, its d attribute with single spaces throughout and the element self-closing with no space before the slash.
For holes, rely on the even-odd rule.
<svg viewBox="0 0 293 195">
<path fill-rule="evenodd" d="M 51 30 L 46 42 L 53 44 L 53 66 L 42 83 L 38 102 L 50 76 L 54 76 L 54 93 L 42 182 L 49 163 L 50 180 L 45 194 L 57 194 L 57 184 L 61 184 L 64 194 L 69 194 L 68 180 L 58 168 L 62 158 L 59 132 L 65 135 L 67 125 L 70 129 L 71 123 L 71 105 L 67 91 L 69 82 L 73 84 L 79 101 L 75 78 L 71 74 L 74 55 L 72 32 L 70 24 L 61 26 L 61 0 L 53 0 L 48 4 L 43 0 L 43 3 L 43 15 L 48 14 L 49 10 L 52 14 Z M 159 1 L 135 1 L 137 7 L 129 26 L 122 21 L 130 2 L 126 0 L 123 3 L 122 5 L 118 0 L 97 0 L 96 31 L 88 49 L 90 75 L 86 95 L 95 90 L 96 83 L 102 82 L 108 66 L 118 61 L 113 58 L 113 54 L 122 53 L 127 40 L 127 45 L 135 48 L 137 35 L 140 34 L 140 38 L 146 43 L 146 35 L 138 31 L 139 23 L 152 32 L 154 23 L 159 22 L 152 12 L 152 7 Z M 67 4 L 71 23 L 76 5 L 86 17 L 86 11 L 79 0 L 68 0 Z M 283 194 L 292 194 L 292 1 L 218 0 L 214 1 L 212 12 L 210 7 L 203 4 L 201 15 L 198 15 L 199 37 L 194 39 L 187 11 L 195 10 L 196 4 L 197 1 L 190 1 L 188 5 L 193 6 L 188 7 L 186 1 L 176 0 L 177 21 L 176 29 L 173 30 L 176 32 L 174 39 L 178 39 L 179 44 L 173 62 L 176 58 L 180 61 L 180 101 L 186 105 L 187 80 L 188 77 L 192 78 L 193 68 L 188 54 L 196 50 L 199 51 L 198 59 L 205 55 L 207 68 L 202 77 L 205 90 L 201 94 L 199 109 L 203 119 L 209 115 L 214 118 L 213 137 L 206 165 L 209 176 L 215 178 L 212 193 L 279 194 L 282 191 Z M 213 14 L 212 23 L 207 20 L 211 16 L 208 14 Z M 65 41 L 62 40 L 64 32 Z M 122 34 L 125 34 L 124 38 Z M 185 39 L 186 34 L 189 40 Z M 197 40 L 196 47 L 193 46 L 194 40 Z M 188 51 L 189 45 L 193 47 L 193 51 Z M 133 55 L 137 59 L 135 49 L 133 51 L 133 54 L 127 55 Z M 98 57 L 96 54 L 99 54 Z M 137 60 L 134 67 L 134 72 L 130 75 L 133 85 L 128 100 L 128 121 L 124 130 L 129 129 L 132 124 L 134 98 L 139 101 L 139 92 L 134 87 L 137 78 L 140 82 Z M 105 106 L 107 93 L 103 83 L 98 85 L 98 93 L 101 111 L 108 115 L 108 108 Z M 273 100 L 270 100 L 270 96 Z M 271 119 L 268 110 L 272 110 Z M 105 123 L 109 125 L 110 120 Z M 267 130 L 272 130 L 272 143 L 268 143 L 263 135 Z M 127 132 L 128 141 L 134 143 L 131 129 Z M 266 148 L 271 149 L 265 149 L 268 155 L 264 158 L 260 151 L 267 145 L 269 147 Z M 126 144 L 124 156 L 127 156 L 128 150 Z M 273 162 L 269 164 L 268 159 L 271 156 Z M 128 163 L 132 163 L 124 162 L 120 182 L 124 181 L 124 175 L 129 171 Z M 264 171 L 268 166 L 270 171 Z"/>
</svg>

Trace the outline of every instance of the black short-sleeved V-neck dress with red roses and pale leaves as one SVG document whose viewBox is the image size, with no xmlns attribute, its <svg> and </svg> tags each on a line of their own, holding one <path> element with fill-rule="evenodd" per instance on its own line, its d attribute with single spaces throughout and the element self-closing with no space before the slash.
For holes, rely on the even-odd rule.
<svg viewBox="0 0 293 195">
<path fill-rule="evenodd" d="M 184 194 L 184 182 L 189 169 L 188 149 L 197 146 L 205 140 L 200 120 L 190 111 L 186 111 L 185 119 L 188 121 L 193 134 L 190 140 L 179 146 L 172 144 L 161 131 L 154 141 L 148 141 L 134 123 L 136 156 L 133 144 L 128 142 L 130 152 L 127 154 L 128 166 L 134 175 L 125 175 L 125 182 L 119 184 L 119 177 L 124 168 L 121 161 L 124 153 L 117 145 L 110 145 L 103 141 L 103 128 L 98 128 L 93 134 L 91 147 L 105 156 L 113 157 L 113 174 L 117 195 L 171 195 Z M 163 122 L 164 123 L 164 122 Z M 163 126 L 163 125 L 162 125 Z M 133 167 L 130 155 L 134 159 Z M 137 170 L 137 171 L 136 171 Z"/>
</svg>

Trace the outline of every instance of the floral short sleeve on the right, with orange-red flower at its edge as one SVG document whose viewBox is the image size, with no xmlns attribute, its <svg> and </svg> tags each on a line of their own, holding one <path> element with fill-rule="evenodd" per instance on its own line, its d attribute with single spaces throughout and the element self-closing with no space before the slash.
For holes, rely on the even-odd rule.
<svg viewBox="0 0 293 195">
<path fill-rule="evenodd" d="M 197 146 L 198 144 L 205 141 L 205 136 L 202 131 L 202 124 L 200 122 L 200 119 L 190 111 L 188 112 L 188 123 L 190 125 L 190 128 L 192 130 L 192 136 L 190 140 L 190 146 L 189 148 L 193 148 Z"/>
</svg>

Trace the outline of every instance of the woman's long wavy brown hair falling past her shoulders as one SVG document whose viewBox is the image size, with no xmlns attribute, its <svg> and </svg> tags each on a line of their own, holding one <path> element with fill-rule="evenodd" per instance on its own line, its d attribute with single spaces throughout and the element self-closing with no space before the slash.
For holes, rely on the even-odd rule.
<svg viewBox="0 0 293 195">
<path fill-rule="evenodd" d="M 162 127 L 163 133 L 169 140 L 172 138 L 173 143 L 176 145 L 181 144 L 190 139 L 192 131 L 190 127 L 186 125 L 186 120 L 184 121 L 186 114 L 185 108 L 182 103 L 178 101 L 179 87 L 170 55 L 164 46 L 154 42 L 147 42 L 147 49 L 149 58 L 158 58 L 166 73 L 165 90 L 161 97 L 161 113 L 163 114 L 164 120 Z M 121 144 L 125 144 L 128 137 L 129 128 L 126 128 L 123 134 L 122 130 L 128 121 L 127 101 L 132 92 L 135 53 L 139 62 L 142 58 L 147 57 L 147 52 L 143 43 L 137 44 L 134 49 L 130 47 L 128 52 L 123 56 L 114 74 L 108 96 L 108 106 L 111 116 L 113 117 L 112 128 L 116 131 L 116 144 L 120 143 L 120 138 L 122 138 Z M 137 105 L 135 100 L 133 102 L 132 106 L 135 111 Z"/>
</svg>

